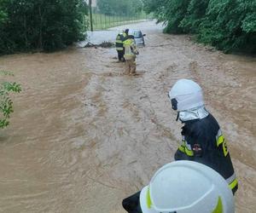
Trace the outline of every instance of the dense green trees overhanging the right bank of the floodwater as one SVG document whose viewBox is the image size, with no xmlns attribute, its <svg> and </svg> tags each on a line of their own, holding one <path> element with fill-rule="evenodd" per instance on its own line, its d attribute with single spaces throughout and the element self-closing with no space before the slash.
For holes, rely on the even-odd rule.
<svg viewBox="0 0 256 213">
<path fill-rule="evenodd" d="M 256 0 L 143 0 L 166 32 L 195 33 L 225 52 L 256 53 Z"/>
</svg>

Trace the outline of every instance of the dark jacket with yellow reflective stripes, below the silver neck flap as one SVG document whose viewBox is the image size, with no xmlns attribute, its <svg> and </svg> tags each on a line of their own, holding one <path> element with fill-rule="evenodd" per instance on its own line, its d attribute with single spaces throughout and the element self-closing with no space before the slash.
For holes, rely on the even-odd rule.
<svg viewBox="0 0 256 213">
<path fill-rule="evenodd" d="M 227 143 L 218 122 L 209 113 L 206 118 L 184 122 L 183 140 L 175 153 L 175 160 L 193 160 L 206 164 L 224 177 L 233 193 L 238 183 Z"/>
</svg>

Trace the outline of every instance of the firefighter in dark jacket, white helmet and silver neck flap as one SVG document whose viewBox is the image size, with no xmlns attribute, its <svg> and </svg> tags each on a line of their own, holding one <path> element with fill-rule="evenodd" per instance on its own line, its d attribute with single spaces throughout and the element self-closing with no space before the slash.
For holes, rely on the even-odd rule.
<svg viewBox="0 0 256 213">
<path fill-rule="evenodd" d="M 192 80 L 181 79 L 169 92 L 172 109 L 184 125 L 182 141 L 175 160 L 192 160 L 210 166 L 224 177 L 236 193 L 238 183 L 227 141 L 212 114 L 207 112 L 201 87 Z"/>
</svg>

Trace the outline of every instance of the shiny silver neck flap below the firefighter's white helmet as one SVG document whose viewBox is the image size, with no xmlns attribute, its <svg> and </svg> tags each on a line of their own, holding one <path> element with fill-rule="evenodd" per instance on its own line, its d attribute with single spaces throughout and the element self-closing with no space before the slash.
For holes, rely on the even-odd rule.
<svg viewBox="0 0 256 213">
<path fill-rule="evenodd" d="M 209 112 L 207 112 L 205 106 L 178 112 L 178 118 L 182 123 L 190 120 L 206 118 L 208 115 Z"/>
</svg>

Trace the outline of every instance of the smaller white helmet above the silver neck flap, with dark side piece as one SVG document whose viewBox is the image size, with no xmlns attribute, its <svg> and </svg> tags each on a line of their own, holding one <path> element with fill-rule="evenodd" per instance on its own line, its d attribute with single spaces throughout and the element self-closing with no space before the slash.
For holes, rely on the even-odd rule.
<svg viewBox="0 0 256 213">
<path fill-rule="evenodd" d="M 186 111 L 204 105 L 201 86 L 189 79 L 178 80 L 169 92 L 172 109 Z"/>
</svg>

